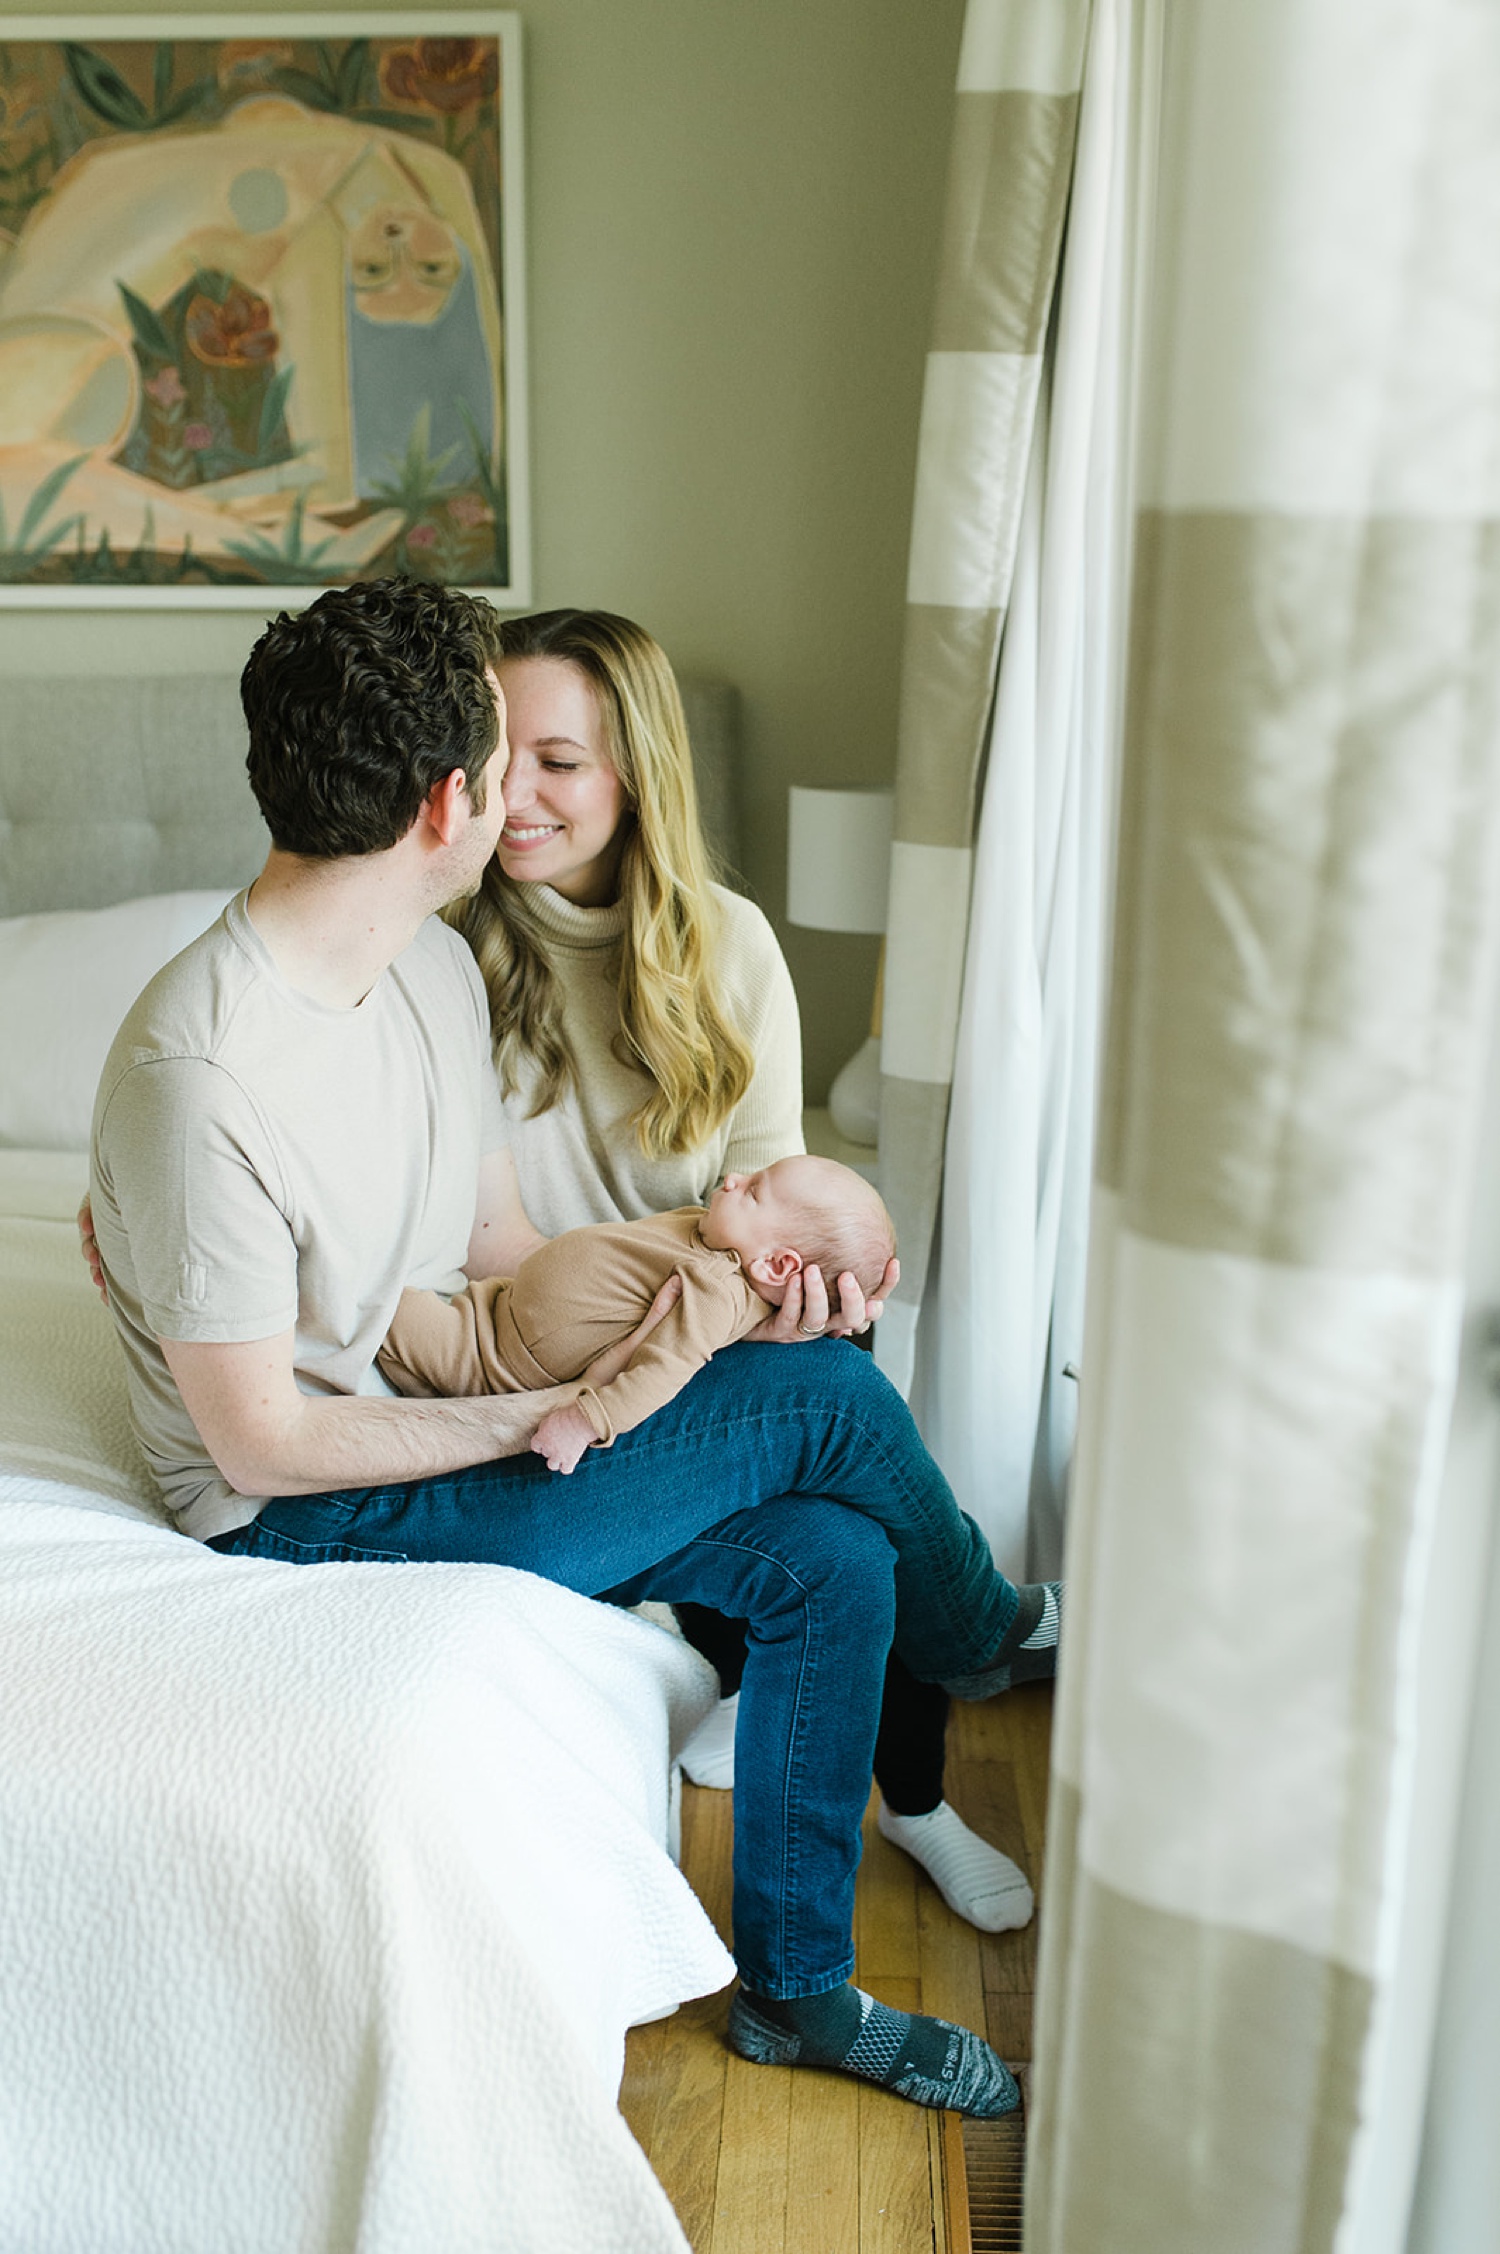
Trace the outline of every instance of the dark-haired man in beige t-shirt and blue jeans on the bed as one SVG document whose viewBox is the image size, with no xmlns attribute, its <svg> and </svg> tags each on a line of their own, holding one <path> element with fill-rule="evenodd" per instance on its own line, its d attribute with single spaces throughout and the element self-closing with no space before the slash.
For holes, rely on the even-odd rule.
<svg viewBox="0 0 1500 2254">
<path fill-rule="evenodd" d="M 404 1285 L 535 1244 L 483 985 L 433 917 L 505 818 L 492 627 L 379 582 L 250 654 L 266 866 L 140 996 L 95 1109 L 135 1427 L 183 1530 L 226 1553 L 514 1564 L 744 1618 L 731 2044 L 1008 2112 L 988 2044 L 848 1984 L 853 1884 L 891 1641 L 981 1697 L 1051 1672 L 1056 1598 L 995 1573 L 871 1359 L 740 1346 L 573 1479 L 530 1438 L 575 1388 L 413 1402 L 374 1370 Z M 817 1276 L 798 1319 L 828 1323 Z"/>
</svg>

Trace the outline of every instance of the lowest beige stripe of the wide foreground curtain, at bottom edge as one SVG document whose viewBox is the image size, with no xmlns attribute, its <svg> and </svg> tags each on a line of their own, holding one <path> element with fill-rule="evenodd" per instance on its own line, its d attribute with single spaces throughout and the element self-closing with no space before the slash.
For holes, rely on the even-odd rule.
<svg viewBox="0 0 1500 2254">
<path fill-rule="evenodd" d="M 1049 1862 L 1067 1796 L 1049 1805 Z M 1087 1871 L 1074 1887 L 1067 1965 L 1049 1941 L 1038 1990 L 1051 2013 L 1065 1986 L 1069 2024 L 1062 2119 L 1047 2103 L 1033 2117 L 1026 2243 L 1331 2254 L 1371 1984 L 1286 1943 L 1148 1909 Z"/>
</svg>

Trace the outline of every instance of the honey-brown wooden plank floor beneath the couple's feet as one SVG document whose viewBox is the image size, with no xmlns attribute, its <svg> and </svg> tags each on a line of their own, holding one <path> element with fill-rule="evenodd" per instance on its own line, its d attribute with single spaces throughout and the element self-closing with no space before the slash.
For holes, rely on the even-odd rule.
<svg viewBox="0 0 1500 2254">
<path fill-rule="evenodd" d="M 947 1796 L 1042 1891 L 1051 1684 L 954 1706 Z M 1031 2060 L 1035 1920 L 977 1934 L 918 1866 L 864 1823 L 855 1977 L 900 2011 L 983 2029 Z M 733 1796 L 683 1787 L 683 1871 L 729 1941 Z M 695 2254 L 963 2254 L 945 2200 L 952 2114 L 839 2074 L 751 2067 L 724 2049 L 729 1995 L 683 2004 L 625 2047 L 620 2105 Z"/>
</svg>

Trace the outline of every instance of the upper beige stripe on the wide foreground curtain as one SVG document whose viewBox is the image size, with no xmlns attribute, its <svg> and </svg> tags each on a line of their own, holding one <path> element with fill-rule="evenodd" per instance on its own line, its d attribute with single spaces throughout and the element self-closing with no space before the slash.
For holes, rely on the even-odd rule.
<svg viewBox="0 0 1500 2254">
<path fill-rule="evenodd" d="M 1441 1274 L 1500 532 L 1153 512 L 1132 633 L 1098 1174 L 1141 1235 Z"/>
</svg>

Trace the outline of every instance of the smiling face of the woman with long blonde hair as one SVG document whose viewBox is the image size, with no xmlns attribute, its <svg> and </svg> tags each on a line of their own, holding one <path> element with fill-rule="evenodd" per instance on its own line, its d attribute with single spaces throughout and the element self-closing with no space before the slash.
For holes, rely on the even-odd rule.
<svg viewBox="0 0 1500 2254">
<path fill-rule="evenodd" d="M 503 658 L 496 674 L 510 737 L 501 868 L 602 908 L 618 888 L 627 800 L 598 692 L 568 658 Z"/>
</svg>

